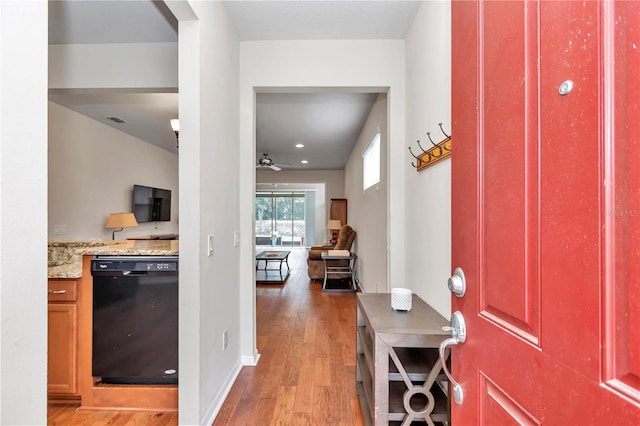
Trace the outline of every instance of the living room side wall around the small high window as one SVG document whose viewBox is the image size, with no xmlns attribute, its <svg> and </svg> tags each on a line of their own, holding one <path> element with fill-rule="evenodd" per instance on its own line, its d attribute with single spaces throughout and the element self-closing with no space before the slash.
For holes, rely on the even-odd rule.
<svg viewBox="0 0 640 426">
<path fill-rule="evenodd" d="M 380 182 L 362 190 L 362 154 L 380 132 Z M 358 280 L 367 293 L 387 292 L 387 94 L 378 95 L 345 168 L 349 224 L 357 232 Z M 395 285 L 402 287 L 402 285 Z"/>
</svg>

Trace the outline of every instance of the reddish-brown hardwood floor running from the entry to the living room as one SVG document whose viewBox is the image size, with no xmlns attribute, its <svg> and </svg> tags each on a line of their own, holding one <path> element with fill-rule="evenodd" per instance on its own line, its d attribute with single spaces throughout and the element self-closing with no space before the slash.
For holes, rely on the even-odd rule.
<svg viewBox="0 0 640 426">
<path fill-rule="evenodd" d="M 285 248 L 282 248 L 283 250 Z M 214 425 L 361 425 L 355 389 L 355 294 L 322 293 L 292 249 L 285 284 L 256 288 L 260 361 L 244 367 Z M 176 425 L 177 413 L 76 411 L 50 405 L 49 425 Z"/>
</svg>

